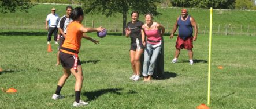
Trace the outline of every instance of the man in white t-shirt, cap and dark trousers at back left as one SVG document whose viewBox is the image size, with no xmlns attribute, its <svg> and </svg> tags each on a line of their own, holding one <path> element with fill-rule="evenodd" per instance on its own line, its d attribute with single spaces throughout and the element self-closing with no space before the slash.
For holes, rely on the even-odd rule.
<svg viewBox="0 0 256 109">
<path fill-rule="evenodd" d="M 52 34 L 54 34 L 55 44 L 58 44 L 58 42 L 57 42 L 57 34 L 58 34 L 57 25 L 59 22 L 59 17 L 57 14 L 55 14 L 55 12 L 56 12 L 55 8 L 51 9 L 51 13 L 48 14 L 47 18 L 46 18 L 46 30 L 48 30 L 47 44 L 50 44 Z"/>
</svg>

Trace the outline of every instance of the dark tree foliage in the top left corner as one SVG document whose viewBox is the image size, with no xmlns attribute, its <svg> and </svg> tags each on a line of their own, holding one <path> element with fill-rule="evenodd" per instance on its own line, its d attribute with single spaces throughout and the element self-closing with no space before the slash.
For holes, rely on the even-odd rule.
<svg viewBox="0 0 256 109">
<path fill-rule="evenodd" d="M 15 13 L 16 10 L 28 12 L 27 9 L 32 6 L 30 0 L 0 0 L 1 13 Z"/>
</svg>

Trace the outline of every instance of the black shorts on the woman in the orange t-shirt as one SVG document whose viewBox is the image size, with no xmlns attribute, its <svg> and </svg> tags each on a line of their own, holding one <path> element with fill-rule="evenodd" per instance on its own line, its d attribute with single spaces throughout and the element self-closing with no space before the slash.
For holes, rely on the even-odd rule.
<svg viewBox="0 0 256 109">
<path fill-rule="evenodd" d="M 60 51 L 60 60 L 61 60 L 61 65 L 65 68 L 73 68 L 74 63 L 75 63 L 75 55 L 64 53 Z M 81 62 L 78 58 L 77 60 L 77 66 L 81 65 Z"/>
</svg>

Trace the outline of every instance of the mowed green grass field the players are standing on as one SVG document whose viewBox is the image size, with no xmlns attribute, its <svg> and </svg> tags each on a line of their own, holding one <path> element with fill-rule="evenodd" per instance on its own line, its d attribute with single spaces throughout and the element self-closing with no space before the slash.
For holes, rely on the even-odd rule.
<svg viewBox="0 0 256 109">
<path fill-rule="evenodd" d="M 0 32 L 0 88 L 16 88 L 15 94 L 0 91 L 0 108 L 73 108 L 75 78 L 69 77 L 61 94 L 51 100 L 62 67 L 55 66 L 57 45 L 47 52 L 45 31 Z M 80 108 L 195 108 L 207 104 L 207 35 L 194 42 L 194 65 L 186 50 L 179 63 L 171 64 L 175 39 L 165 40 L 165 79 L 143 82 L 129 80 L 129 38 L 109 33 L 95 45 L 82 40 L 79 58 L 83 67 L 81 99 L 90 104 Z M 176 38 L 176 37 L 175 37 Z M 256 37 L 213 36 L 210 108 L 256 108 Z M 221 65 L 223 69 L 217 67 Z M 142 78 L 141 78 L 142 79 Z"/>
</svg>

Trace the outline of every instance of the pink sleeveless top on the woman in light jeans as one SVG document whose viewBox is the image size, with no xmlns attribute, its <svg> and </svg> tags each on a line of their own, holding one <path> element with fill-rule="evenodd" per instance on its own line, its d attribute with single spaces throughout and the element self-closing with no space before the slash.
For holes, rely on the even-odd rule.
<svg viewBox="0 0 256 109">
<path fill-rule="evenodd" d="M 144 24 L 144 26 L 145 26 L 145 28 L 149 28 L 146 24 Z M 159 30 L 157 28 L 157 23 L 153 22 L 151 27 L 154 27 L 154 29 L 153 30 L 145 29 L 145 33 L 146 33 L 147 39 L 152 40 L 152 41 L 160 41 L 160 40 L 162 40 L 161 34 L 160 34 L 160 32 L 159 32 Z M 159 42 L 149 42 L 149 41 L 147 41 L 147 43 L 155 45 L 155 44 L 158 44 Z"/>
</svg>

